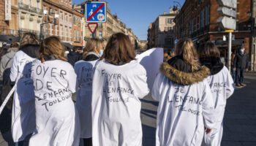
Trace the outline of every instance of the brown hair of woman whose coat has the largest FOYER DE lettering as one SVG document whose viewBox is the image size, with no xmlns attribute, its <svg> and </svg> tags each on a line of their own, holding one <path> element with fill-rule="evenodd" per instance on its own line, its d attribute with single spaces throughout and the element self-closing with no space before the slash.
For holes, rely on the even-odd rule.
<svg viewBox="0 0 256 146">
<path fill-rule="evenodd" d="M 56 36 L 51 36 L 44 39 L 41 42 L 39 53 L 42 63 L 45 62 L 44 57 L 49 56 L 53 56 L 61 61 L 67 61 L 67 59 L 64 58 L 64 47 L 61 44 L 59 37 Z"/>
</svg>

